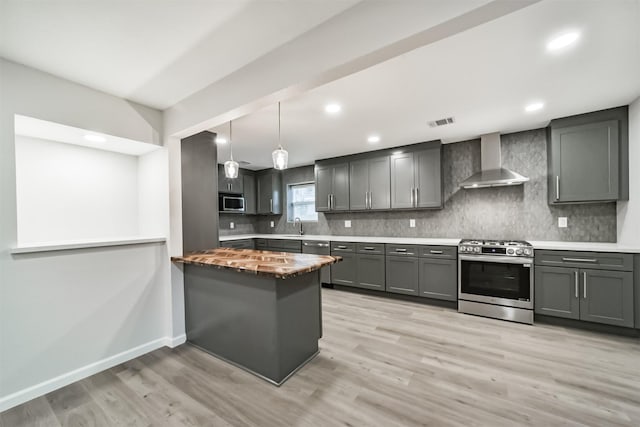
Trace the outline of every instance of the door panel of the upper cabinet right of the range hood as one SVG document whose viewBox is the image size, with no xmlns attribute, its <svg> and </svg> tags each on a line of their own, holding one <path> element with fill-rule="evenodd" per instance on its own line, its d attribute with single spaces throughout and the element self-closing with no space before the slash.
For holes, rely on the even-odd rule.
<svg viewBox="0 0 640 427">
<path fill-rule="evenodd" d="M 618 199 L 618 121 L 551 131 L 552 203 Z"/>
</svg>

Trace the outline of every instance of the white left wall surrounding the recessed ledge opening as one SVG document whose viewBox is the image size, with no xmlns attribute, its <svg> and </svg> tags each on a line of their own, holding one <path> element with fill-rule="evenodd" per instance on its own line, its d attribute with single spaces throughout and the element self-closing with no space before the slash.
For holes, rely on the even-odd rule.
<svg viewBox="0 0 640 427">
<path fill-rule="evenodd" d="M 148 143 L 159 143 L 162 128 L 159 111 L 0 59 L 0 411 L 175 338 L 166 245 L 10 254 L 14 114 Z M 167 162 L 156 155 L 166 198 Z M 161 202 L 156 226 L 168 224 Z"/>
</svg>

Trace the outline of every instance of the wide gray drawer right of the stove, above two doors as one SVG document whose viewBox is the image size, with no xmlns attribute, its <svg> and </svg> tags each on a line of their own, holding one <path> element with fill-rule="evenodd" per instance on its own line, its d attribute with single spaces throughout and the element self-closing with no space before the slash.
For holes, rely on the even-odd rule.
<svg viewBox="0 0 640 427">
<path fill-rule="evenodd" d="M 535 264 L 596 270 L 633 271 L 633 255 L 613 252 L 536 250 Z"/>
</svg>

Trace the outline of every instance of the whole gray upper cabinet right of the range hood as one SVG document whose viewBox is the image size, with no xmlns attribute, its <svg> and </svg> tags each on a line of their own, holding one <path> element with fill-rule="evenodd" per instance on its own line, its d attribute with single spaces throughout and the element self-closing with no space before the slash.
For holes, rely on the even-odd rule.
<svg viewBox="0 0 640 427">
<path fill-rule="evenodd" d="M 626 107 L 552 120 L 548 139 L 550 204 L 628 199 Z"/>
</svg>

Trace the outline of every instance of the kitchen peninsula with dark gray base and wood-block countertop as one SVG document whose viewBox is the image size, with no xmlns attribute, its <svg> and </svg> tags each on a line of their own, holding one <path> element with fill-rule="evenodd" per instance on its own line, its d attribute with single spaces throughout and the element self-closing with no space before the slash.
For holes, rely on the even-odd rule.
<svg viewBox="0 0 640 427">
<path fill-rule="evenodd" d="M 340 257 L 210 249 L 183 263 L 187 340 L 280 385 L 318 354 L 320 268 Z"/>
</svg>

